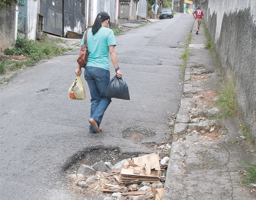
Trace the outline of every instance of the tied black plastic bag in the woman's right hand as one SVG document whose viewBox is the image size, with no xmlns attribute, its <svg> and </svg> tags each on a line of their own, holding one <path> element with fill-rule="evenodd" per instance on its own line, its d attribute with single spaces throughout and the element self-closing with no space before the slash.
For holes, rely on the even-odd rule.
<svg viewBox="0 0 256 200">
<path fill-rule="evenodd" d="M 130 100 L 127 83 L 122 79 L 113 77 L 106 88 L 106 97 Z"/>
</svg>

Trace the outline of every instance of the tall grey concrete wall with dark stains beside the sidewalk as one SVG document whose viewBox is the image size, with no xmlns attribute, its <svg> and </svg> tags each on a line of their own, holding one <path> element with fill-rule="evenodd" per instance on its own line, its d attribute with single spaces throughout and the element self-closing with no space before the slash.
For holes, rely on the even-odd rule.
<svg viewBox="0 0 256 200">
<path fill-rule="evenodd" d="M 255 0 L 207 0 L 201 3 L 215 43 L 222 74 L 234 75 L 237 116 L 256 147 L 256 3 Z"/>
</svg>

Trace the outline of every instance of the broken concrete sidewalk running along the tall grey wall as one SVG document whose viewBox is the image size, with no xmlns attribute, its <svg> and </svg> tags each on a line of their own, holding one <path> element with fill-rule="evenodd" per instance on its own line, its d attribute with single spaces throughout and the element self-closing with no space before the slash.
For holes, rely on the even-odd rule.
<svg viewBox="0 0 256 200">
<path fill-rule="evenodd" d="M 183 98 L 176 117 L 163 200 L 255 199 L 239 180 L 240 161 L 253 163 L 255 153 L 241 133 L 237 118 L 209 120 L 218 113 L 215 90 L 221 72 L 208 49 L 205 31 L 191 39 Z M 239 142 L 237 142 L 239 141 Z"/>
</svg>

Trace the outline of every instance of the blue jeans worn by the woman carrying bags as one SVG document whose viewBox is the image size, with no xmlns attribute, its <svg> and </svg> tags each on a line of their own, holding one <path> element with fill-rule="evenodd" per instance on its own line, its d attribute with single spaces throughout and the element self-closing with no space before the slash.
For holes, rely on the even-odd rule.
<svg viewBox="0 0 256 200">
<path fill-rule="evenodd" d="M 111 98 L 105 96 L 106 88 L 110 82 L 110 73 L 99 67 L 86 67 L 84 78 L 91 93 L 91 118 L 95 119 L 99 126 L 106 108 L 111 103 Z M 89 129 L 90 133 L 95 133 L 91 125 Z"/>
</svg>

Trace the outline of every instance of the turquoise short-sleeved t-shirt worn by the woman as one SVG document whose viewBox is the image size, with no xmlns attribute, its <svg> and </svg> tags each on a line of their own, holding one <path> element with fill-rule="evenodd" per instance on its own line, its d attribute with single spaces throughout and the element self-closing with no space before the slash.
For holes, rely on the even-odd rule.
<svg viewBox="0 0 256 200">
<path fill-rule="evenodd" d="M 85 34 L 85 32 L 84 32 Z M 84 36 L 81 41 L 83 45 Z M 100 67 L 109 71 L 109 49 L 108 46 L 116 46 L 115 35 L 110 28 L 101 27 L 93 35 L 90 28 L 87 32 L 88 61 L 86 66 Z"/>
</svg>

